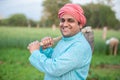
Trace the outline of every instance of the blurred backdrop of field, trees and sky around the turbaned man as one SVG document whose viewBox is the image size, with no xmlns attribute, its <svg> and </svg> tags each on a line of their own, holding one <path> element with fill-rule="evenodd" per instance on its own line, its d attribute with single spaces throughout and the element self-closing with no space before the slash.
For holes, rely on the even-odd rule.
<svg viewBox="0 0 120 80">
<path fill-rule="evenodd" d="M 0 80 L 43 80 L 27 45 L 61 35 L 57 14 L 66 3 L 82 6 L 94 31 L 87 80 L 120 80 L 120 0 L 0 0 Z"/>
</svg>

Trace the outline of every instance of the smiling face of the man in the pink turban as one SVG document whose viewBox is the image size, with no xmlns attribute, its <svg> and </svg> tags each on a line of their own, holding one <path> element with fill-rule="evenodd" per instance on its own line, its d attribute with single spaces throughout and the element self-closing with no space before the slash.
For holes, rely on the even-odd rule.
<svg viewBox="0 0 120 80">
<path fill-rule="evenodd" d="M 64 37 L 70 37 L 80 31 L 81 25 L 71 15 L 63 15 L 60 18 L 60 31 Z"/>
</svg>

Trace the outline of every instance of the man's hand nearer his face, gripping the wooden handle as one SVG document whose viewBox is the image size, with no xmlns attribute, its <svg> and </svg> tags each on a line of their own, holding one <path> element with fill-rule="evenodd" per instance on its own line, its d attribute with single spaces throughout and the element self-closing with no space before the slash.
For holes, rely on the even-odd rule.
<svg viewBox="0 0 120 80">
<path fill-rule="evenodd" d="M 45 37 L 41 40 L 41 42 L 43 43 L 43 46 L 42 46 L 43 49 L 51 47 L 54 44 L 54 41 L 51 37 Z"/>
</svg>

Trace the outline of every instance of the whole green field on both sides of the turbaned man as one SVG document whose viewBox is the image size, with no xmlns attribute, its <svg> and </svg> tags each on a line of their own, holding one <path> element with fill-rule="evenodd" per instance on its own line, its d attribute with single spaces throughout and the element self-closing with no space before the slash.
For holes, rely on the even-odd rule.
<svg viewBox="0 0 120 80">
<path fill-rule="evenodd" d="M 94 30 L 95 50 L 87 80 L 120 80 L 120 44 L 117 56 L 108 55 L 102 31 Z M 107 39 L 120 31 L 109 30 Z M 44 74 L 28 61 L 27 45 L 45 36 L 60 36 L 51 28 L 0 27 L 0 80 L 43 80 Z M 106 54 L 107 53 L 107 54 Z"/>
</svg>

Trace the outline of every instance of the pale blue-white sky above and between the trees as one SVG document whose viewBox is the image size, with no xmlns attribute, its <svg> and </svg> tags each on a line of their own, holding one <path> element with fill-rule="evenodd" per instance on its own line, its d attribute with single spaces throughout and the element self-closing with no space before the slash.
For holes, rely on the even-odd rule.
<svg viewBox="0 0 120 80">
<path fill-rule="evenodd" d="M 11 15 L 22 13 L 28 19 L 40 20 L 42 16 L 42 2 L 43 0 L 0 0 L 0 18 L 8 18 Z M 81 5 L 96 2 L 96 0 L 72 0 L 73 3 Z M 117 19 L 120 20 L 120 0 L 113 0 Z"/>
</svg>

